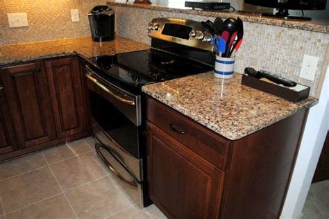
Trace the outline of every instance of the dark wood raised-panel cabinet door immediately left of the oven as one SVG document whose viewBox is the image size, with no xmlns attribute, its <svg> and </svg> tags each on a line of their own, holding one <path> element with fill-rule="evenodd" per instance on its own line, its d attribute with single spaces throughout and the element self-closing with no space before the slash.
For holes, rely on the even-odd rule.
<svg viewBox="0 0 329 219">
<path fill-rule="evenodd" d="M 86 107 L 78 58 L 50 60 L 45 64 L 58 137 L 85 131 Z"/>
</svg>

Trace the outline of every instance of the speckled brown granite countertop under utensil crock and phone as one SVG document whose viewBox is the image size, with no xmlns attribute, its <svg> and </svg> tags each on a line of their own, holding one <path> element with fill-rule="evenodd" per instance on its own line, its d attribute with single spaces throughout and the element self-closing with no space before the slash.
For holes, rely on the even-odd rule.
<svg viewBox="0 0 329 219">
<path fill-rule="evenodd" d="M 212 72 L 146 85 L 144 93 L 231 140 L 241 139 L 317 103 L 307 98 L 292 103 L 241 85 L 242 75 L 230 80 Z"/>
</svg>

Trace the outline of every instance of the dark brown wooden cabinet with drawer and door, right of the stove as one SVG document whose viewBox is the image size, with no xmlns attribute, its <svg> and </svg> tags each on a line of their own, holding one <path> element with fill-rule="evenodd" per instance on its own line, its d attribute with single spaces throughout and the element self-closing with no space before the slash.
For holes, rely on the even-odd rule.
<svg viewBox="0 0 329 219">
<path fill-rule="evenodd" d="M 305 118 L 230 141 L 146 97 L 149 198 L 169 218 L 279 218 Z"/>
</svg>

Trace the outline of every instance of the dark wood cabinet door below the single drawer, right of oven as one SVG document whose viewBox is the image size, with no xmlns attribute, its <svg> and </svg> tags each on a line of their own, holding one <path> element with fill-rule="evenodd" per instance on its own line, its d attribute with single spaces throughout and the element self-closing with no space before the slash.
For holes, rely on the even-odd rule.
<svg viewBox="0 0 329 219">
<path fill-rule="evenodd" d="M 219 218 L 221 172 L 147 123 L 149 197 L 169 218 Z"/>
</svg>

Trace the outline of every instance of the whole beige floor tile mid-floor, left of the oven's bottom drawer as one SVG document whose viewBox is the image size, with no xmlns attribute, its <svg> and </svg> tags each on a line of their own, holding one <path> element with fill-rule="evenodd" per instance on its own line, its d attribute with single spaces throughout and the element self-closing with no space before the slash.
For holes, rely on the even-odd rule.
<svg viewBox="0 0 329 219">
<path fill-rule="evenodd" d="M 94 152 L 87 152 L 77 157 L 51 165 L 53 173 L 65 191 L 99 177 L 107 175 Z"/>
</svg>

